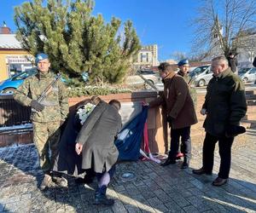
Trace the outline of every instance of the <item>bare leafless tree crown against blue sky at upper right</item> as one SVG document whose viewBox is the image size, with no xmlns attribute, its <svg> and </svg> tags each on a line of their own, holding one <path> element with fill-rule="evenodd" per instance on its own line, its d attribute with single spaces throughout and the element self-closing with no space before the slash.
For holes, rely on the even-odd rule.
<svg viewBox="0 0 256 213">
<path fill-rule="evenodd" d="M 255 0 L 202 0 L 193 20 L 193 51 L 229 55 L 252 45 L 249 29 L 256 27 Z M 255 44 L 254 44 L 255 45 Z"/>
</svg>

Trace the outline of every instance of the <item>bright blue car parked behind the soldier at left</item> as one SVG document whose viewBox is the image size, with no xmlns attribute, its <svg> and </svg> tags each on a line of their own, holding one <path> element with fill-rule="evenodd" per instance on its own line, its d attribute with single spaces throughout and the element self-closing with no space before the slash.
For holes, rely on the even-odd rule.
<svg viewBox="0 0 256 213">
<path fill-rule="evenodd" d="M 35 75 L 37 72 L 38 71 L 35 68 L 28 69 L 25 72 L 21 72 L 4 80 L 3 82 L 0 82 L 0 93 L 13 93 L 27 77 Z"/>
</svg>

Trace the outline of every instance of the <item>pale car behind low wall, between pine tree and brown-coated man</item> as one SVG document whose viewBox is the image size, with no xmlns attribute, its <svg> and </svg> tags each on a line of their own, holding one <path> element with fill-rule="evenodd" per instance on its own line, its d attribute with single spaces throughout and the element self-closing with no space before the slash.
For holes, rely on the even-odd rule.
<svg viewBox="0 0 256 213">
<path fill-rule="evenodd" d="M 141 70 L 136 75 L 131 75 L 125 78 L 125 83 L 129 85 L 144 85 L 145 89 L 152 89 L 148 83 L 155 84 L 160 82 L 160 75 L 158 72 L 151 70 Z"/>
</svg>

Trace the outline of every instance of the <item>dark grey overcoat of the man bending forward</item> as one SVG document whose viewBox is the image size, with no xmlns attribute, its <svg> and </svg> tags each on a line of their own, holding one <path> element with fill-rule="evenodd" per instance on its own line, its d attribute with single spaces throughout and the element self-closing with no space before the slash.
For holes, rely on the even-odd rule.
<svg viewBox="0 0 256 213">
<path fill-rule="evenodd" d="M 97 173 L 110 170 L 119 152 L 114 138 L 121 130 L 122 121 L 118 110 L 101 101 L 85 120 L 76 142 L 84 145 L 82 169 L 92 168 Z"/>
</svg>

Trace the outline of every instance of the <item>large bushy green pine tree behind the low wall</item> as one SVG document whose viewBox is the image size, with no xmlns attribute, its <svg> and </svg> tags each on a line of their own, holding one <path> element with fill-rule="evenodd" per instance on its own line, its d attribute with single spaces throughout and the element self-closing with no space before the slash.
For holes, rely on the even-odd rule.
<svg viewBox="0 0 256 213">
<path fill-rule="evenodd" d="M 117 83 L 130 66 L 131 55 L 140 49 L 130 20 L 119 35 L 121 20 L 105 23 L 91 14 L 93 0 L 33 0 L 15 8 L 17 39 L 30 54 L 49 55 L 53 70 L 79 82 L 89 72 L 92 83 Z M 44 6 L 45 5 L 45 6 Z"/>
</svg>

